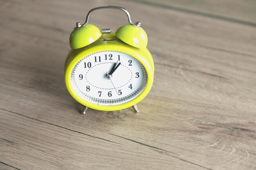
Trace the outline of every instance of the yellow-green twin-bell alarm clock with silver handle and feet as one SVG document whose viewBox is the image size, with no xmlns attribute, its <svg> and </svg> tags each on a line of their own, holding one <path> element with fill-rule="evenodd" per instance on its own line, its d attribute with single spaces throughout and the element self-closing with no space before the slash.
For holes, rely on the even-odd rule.
<svg viewBox="0 0 256 170">
<path fill-rule="evenodd" d="M 124 11 L 128 24 L 115 33 L 88 24 L 93 11 Z M 121 110 L 132 107 L 149 93 L 154 79 L 154 62 L 146 48 L 148 37 L 140 22 L 132 23 L 122 7 L 104 6 L 91 9 L 84 24 L 76 22 L 70 35 L 71 50 L 65 62 L 65 84 L 70 95 L 88 108 Z"/>
</svg>

